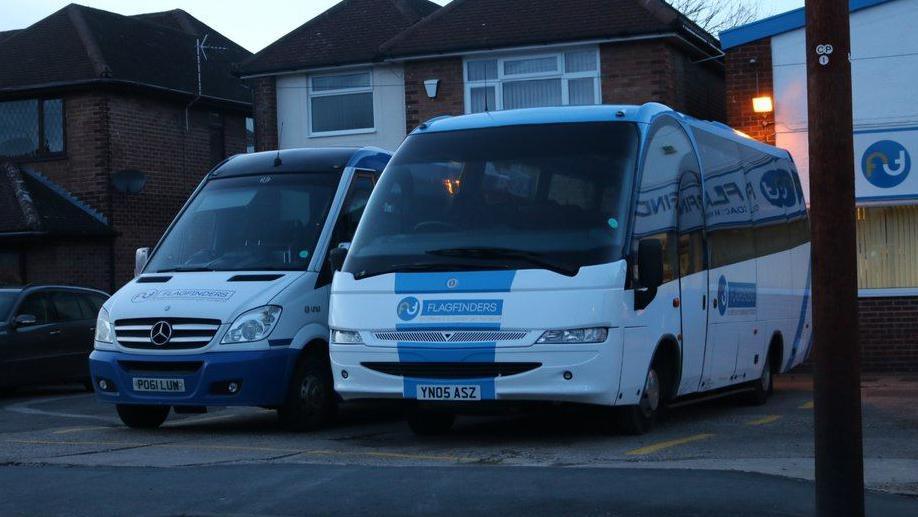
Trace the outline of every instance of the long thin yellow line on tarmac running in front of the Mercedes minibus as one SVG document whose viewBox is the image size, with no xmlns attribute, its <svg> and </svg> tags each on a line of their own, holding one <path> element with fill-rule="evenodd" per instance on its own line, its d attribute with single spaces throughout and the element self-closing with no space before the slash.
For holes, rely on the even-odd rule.
<svg viewBox="0 0 918 517">
<path fill-rule="evenodd" d="M 198 444 L 180 444 L 180 443 L 132 443 L 132 442 L 97 442 L 97 441 L 79 441 L 79 440 L 6 440 L 10 443 L 19 443 L 26 445 L 85 445 L 85 446 L 117 446 L 117 447 L 160 447 L 166 449 L 198 449 L 198 450 L 225 450 L 240 452 L 273 452 L 281 454 L 304 454 L 314 456 L 353 456 L 353 457 L 371 457 L 371 458 L 397 458 L 413 459 L 423 461 L 443 461 L 450 463 L 469 463 L 478 461 L 478 458 L 467 456 L 438 456 L 431 454 L 412 454 L 404 452 L 385 452 L 385 451 L 335 451 L 328 449 L 287 449 L 281 447 L 258 447 L 250 445 L 198 445 Z"/>
</svg>

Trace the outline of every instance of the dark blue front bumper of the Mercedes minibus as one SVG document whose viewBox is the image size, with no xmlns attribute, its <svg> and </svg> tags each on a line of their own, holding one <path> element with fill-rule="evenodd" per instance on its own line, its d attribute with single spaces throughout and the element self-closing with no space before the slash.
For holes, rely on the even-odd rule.
<svg viewBox="0 0 918 517">
<path fill-rule="evenodd" d="M 89 356 L 96 397 L 115 404 L 170 406 L 278 406 L 284 402 L 299 350 L 152 355 L 95 350 Z M 197 366 L 197 368 L 195 368 Z M 170 371 L 171 370 L 171 371 Z M 134 391 L 135 377 L 182 379 L 182 393 Z M 113 384 L 102 391 L 99 381 Z M 239 390 L 228 393 L 227 383 Z"/>
</svg>

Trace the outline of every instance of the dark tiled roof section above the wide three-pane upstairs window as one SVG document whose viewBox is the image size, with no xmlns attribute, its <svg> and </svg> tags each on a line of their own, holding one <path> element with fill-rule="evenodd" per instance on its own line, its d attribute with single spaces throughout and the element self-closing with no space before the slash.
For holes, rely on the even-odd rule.
<svg viewBox="0 0 918 517">
<path fill-rule="evenodd" d="M 381 50 L 405 57 L 672 32 L 717 45 L 661 0 L 453 0 Z"/>
</svg>

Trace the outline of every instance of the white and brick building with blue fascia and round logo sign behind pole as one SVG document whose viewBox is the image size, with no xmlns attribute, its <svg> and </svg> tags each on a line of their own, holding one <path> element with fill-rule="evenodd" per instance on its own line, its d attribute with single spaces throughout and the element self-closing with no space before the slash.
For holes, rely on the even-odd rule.
<svg viewBox="0 0 918 517">
<path fill-rule="evenodd" d="M 860 342 L 865 370 L 918 371 L 918 11 L 913 0 L 851 0 Z M 791 152 L 809 183 L 805 13 L 721 34 L 727 123 Z M 844 58 L 844 57 L 841 57 Z M 752 99 L 772 99 L 757 113 Z M 884 172 L 884 169 L 889 172 Z"/>
</svg>

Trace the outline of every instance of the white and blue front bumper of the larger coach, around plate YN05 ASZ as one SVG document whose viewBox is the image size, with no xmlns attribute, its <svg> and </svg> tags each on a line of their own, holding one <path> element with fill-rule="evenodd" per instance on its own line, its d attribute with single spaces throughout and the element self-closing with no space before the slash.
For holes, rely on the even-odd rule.
<svg viewBox="0 0 918 517">
<path fill-rule="evenodd" d="M 495 362 L 535 361 L 541 366 L 528 372 L 495 378 L 412 378 L 381 373 L 362 366 L 362 363 L 398 362 L 398 351 L 367 345 L 332 345 L 331 365 L 335 390 L 345 400 L 414 399 L 418 385 L 474 384 L 480 387 L 483 400 L 609 406 L 618 398 L 622 357 L 619 343 L 619 329 L 611 329 L 605 343 L 498 348 L 494 352 Z M 343 372 L 347 372 L 346 377 Z M 570 373 L 569 379 L 565 378 L 565 372 Z"/>
</svg>

